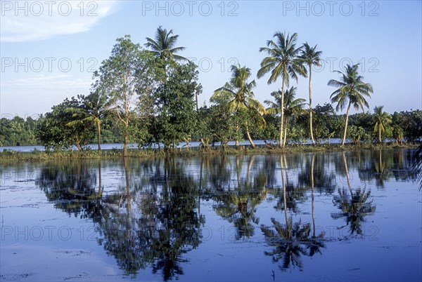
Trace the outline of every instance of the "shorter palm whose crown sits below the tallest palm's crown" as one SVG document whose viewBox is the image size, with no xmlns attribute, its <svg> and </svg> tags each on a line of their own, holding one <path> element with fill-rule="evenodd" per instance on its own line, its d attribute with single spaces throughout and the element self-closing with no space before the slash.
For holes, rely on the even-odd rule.
<svg viewBox="0 0 422 282">
<path fill-rule="evenodd" d="M 284 93 L 284 140 L 283 146 L 286 145 L 286 136 L 287 136 L 287 125 L 288 120 L 297 114 L 301 114 L 303 112 L 303 106 L 305 105 L 305 99 L 297 98 L 295 99 L 296 90 L 294 86 L 290 87 L 290 89 L 286 90 Z M 264 103 L 269 105 L 267 112 L 270 114 L 279 114 L 279 109 L 281 109 L 281 90 L 277 90 L 271 93 L 276 100 L 276 102 L 272 102 L 270 100 L 265 100 Z"/>
</svg>

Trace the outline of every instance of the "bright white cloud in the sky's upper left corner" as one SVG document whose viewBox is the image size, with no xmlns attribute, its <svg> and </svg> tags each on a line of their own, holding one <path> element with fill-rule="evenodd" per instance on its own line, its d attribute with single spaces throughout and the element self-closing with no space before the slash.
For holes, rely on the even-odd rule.
<svg viewBox="0 0 422 282">
<path fill-rule="evenodd" d="M 1 1 L 1 42 L 40 41 L 87 32 L 117 1 Z"/>
</svg>

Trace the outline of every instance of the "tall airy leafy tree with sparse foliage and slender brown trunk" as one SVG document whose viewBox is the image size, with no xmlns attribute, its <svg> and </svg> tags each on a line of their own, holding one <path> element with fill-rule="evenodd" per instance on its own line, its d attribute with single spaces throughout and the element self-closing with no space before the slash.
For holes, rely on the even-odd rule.
<svg viewBox="0 0 422 282">
<path fill-rule="evenodd" d="M 151 53 L 132 42 L 129 35 L 117 39 L 111 55 L 94 72 L 94 85 L 113 100 L 115 114 L 123 125 L 123 156 L 131 136 L 130 126 L 136 118 L 139 97 L 151 90 Z"/>
</svg>

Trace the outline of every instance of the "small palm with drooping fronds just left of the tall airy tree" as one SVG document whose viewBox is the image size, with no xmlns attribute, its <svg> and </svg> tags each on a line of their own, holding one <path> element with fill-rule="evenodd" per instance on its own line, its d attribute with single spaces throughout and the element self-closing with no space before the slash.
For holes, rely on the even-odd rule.
<svg viewBox="0 0 422 282">
<path fill-rule="evenodd" d="M 82 107 L 69 108 L 74 121 L 67 123 L 67 126 L 74 126 L 77 123 L 95 123 L 97 129 L 98 152 L 101 152 L 101 121 L 113 110 L 113 100 L 109 99 L 99 88 L 87 97 L 81 96 Z"/>
</svg>

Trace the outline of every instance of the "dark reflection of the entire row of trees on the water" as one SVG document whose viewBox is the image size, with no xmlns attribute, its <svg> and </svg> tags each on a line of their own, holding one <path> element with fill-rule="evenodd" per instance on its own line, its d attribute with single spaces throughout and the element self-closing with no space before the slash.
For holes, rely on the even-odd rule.
<svg viewBox="0 0 422 282">
<path fill-rule="evenodd" d="M 167 281 L 184 274 L 189 252 L 204 243 L 201 204 L 210 201 L 211 213 L 234 224 L 236 239 L 264 240 L 271 248 L 265 255 L 281 262 L 281 269 L 301 270 L 301 257 L 326 248 L 318 222 L 341 217 L 350 234 L 363 234 L 365 217 L 376 208 L 370 191 L 359 185 L 375 180 L 381 187 L 392 178 L 413 177 L 407 173 L 410 159 L 402 150 L 380 150 L 50 161 L 33 169 L 36 184 L 56 208 L 94 222 L 98 243 L 125 274 L 136 277 L 140 269 L 151 269 Z M 340 211 L 321 215 L 319 194 Z M 274 209 L 265 210 L 265 203 Z M 307 207 L 309 222 L 295 222 Z M 281 213 L 283 224 L 272 218 Z M 270 217 L 271 226 L 259 225 Z"/>
</svg>

